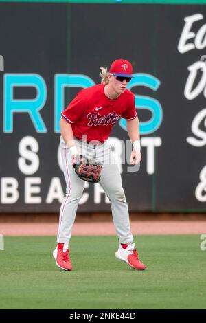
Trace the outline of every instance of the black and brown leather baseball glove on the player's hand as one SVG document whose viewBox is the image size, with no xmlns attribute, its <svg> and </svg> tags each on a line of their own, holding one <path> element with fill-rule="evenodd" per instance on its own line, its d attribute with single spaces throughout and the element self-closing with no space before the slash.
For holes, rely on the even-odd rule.
<svg viewBox="0 0 206 323">
<path fill-rule="evenodd" d="M 76 174 L 83 181 L 89 181 L 91 183 L 98 183 L 100 181 L 102 164 L 89 164 L 88 159 L 82 155 L 74 157 L 72 164 Z"/>
</svg>

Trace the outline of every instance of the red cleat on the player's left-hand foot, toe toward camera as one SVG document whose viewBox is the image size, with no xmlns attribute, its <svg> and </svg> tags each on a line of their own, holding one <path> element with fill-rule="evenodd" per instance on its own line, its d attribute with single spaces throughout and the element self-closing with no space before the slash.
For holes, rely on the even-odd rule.
<svg viewBox="0 0 206 323">
<path fill-rule="evenodd" d="M 64 243 L 58 243 L 58 246 L 53 252 L 54 259 L 56 260 L 56 265 L 64 270 L 71 270 L 72 265 L 69 259 L 69 249 L 63 249 Z"/>
</svg>

